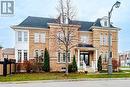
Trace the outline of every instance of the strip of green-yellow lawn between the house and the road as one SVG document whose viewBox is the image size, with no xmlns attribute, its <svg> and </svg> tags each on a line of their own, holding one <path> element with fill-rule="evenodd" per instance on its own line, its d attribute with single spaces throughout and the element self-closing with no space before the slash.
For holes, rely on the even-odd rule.
<svg viewBox="0 0 130 87">
<path fill-rule="evenodd" d="M 14 74 L 12 76 L 7 75 L 6 77 L 0 76 L 0 82 L 8 81 L 34 81 L 34 80 L 63 80 L 63 79 L 80 79 L 80 78 L 130 78 L 129 73 L 124 71 L 113 73 L 108 75 L 107 73 L 101 74 L 85 74 L 85 73 L 70 73 L 68 76 L 65 76 L 64 73 L 21 73 Z"/>
</svg>

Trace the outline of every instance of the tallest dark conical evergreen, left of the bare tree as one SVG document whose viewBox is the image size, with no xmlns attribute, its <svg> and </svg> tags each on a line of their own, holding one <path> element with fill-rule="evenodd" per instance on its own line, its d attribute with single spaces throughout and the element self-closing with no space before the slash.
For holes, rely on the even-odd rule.
<svg viewBox="0 0 130 87">
<path fill-rule="evenodd" d="M 45 52 L 44 52 L 43 70 L 45 72 L 49 72 L 50 71 L 50 58 L 49 58 L 48 50 L 46 48 L 45 48 Z"/>
</svg>

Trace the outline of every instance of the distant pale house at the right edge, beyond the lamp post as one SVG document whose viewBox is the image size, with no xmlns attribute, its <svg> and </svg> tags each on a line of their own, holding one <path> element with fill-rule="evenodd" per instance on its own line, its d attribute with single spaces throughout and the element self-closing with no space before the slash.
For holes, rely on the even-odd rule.
<svg viewBox="0 0 130 87">
<path fill-rule="evenodd" d="M 120 66 L 130 66 L 130 51 L 119 53 Z"/>
</svg>

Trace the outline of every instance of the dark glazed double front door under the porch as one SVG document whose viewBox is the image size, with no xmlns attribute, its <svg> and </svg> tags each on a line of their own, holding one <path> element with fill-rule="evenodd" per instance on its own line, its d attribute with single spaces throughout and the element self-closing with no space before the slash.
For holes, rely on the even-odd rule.
<svg viewBox="0 0 130 87">
<path fill-rule="evenodd" d="M 80 53 L 80 67 L 86 68 L 89 66 L 89 53 Z"/>
</svg>

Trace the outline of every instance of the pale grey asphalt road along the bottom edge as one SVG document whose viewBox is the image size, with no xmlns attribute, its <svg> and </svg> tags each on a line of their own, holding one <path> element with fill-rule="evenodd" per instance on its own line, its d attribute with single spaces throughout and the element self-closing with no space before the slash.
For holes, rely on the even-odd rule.
<svg viewBox="0 0 130 87">
<path fill-rule="evenodd" d="M 130 87 L 130 80 L 0 83 L 0 87 Z"/>
</svg>

